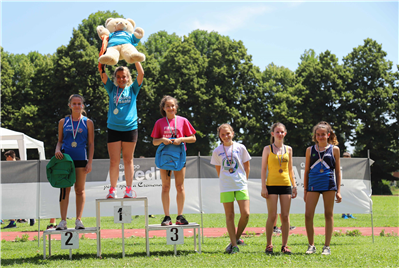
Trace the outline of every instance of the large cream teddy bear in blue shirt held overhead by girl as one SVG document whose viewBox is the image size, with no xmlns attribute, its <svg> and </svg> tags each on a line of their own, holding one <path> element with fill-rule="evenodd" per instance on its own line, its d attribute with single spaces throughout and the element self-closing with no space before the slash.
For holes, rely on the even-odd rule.
<svg viewBox="0 0 399 268">
<path fill-rule="evenodd" d="M 132 19 L 109 18 L 105 27 L 97 26 L 98 36 L 109 37 L 106 53 L 98 61 L 105 65 L 115 65 L 124 59 L 127 63 L 143 62 L 145 55 L 137 51 L 136 46 L 144 36 L 144 30 L 137 27 Z"/>
</svg>

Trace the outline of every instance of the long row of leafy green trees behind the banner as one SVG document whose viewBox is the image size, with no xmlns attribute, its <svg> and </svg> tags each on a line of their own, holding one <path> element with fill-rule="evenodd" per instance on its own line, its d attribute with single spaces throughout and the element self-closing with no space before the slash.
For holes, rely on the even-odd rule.
<svg viewBox="0 0 399 268">
<path fill-rule="evenodd" d="M 11 54 L 0 47 L 1 127 L 44 141 L 50 158 L 57 122 L 69 113 L 68 97 L 79 93 L 95 126 L 94 157 L 108 158 L 108 95 L 97 70 L 101 40 L 96 27 L 109 17 L 123 16 L 91 14 L 73 29 L 69 44 L 54 54 Z M 188 155 L 210 155 L 218 141 L 217 126 L 227 122 L 235 129 L 235 139 L 259 156 L 269 144 L 271 125 L 279 121 L 287 127 L 285 142 L 294 155 L 304 156 L 313 144 L 312 127 L 324 120 L 336 131 L 342 153 L 346 142 L 355 147 L 355 157 L 367 157 L 370 150 L 376 161 L 373 183 L 395 179 L 391 172 L 399 169 L 399 73 L 377 41 L 365 39 L 342 63 L 329 50 L 318 55 L 306 50 L 295 71 L 274 63 L 261 70 L 242 41 L 203 30 L 183 37 L 159 31 L 137 49 L 146 61 L 137 101 L 135 157 L 155 155 L 150 135 L 161 117 L 159 102 L 163 95 L 172 95 L 179 101 L 178 114 L 197 130 Z M 127 66 L 135 76 L 134 64 Z M 107 66 L 108 75 L 113 69 Z"/>
</svg>

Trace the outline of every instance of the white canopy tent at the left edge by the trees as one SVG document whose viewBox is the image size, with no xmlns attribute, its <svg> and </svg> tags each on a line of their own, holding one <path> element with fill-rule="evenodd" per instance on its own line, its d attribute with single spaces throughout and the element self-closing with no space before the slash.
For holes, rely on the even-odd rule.
<svg viewBox="0 0 399 268">
<path fill-rule="evenodd" d="M 22 132 L 0 127 L 0 149 L 18 149 L 21 160 L 26 159 L 26 149 L 37 149 L 41 160 L 46 159 L 44 143 Z"/>
</svg>

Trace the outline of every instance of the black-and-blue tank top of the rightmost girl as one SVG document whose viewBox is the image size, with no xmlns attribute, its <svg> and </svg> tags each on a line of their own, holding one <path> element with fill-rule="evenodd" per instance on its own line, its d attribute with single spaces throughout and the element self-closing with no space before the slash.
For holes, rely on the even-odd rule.
<svg viewBox="0 0 399 268">
<path fill-rule="evenodd" d="M 333 153 L 333 145 L 330 145 L 326 150 L 319 154 L 316 150 L 316 145 L 312 146 L 310 152 L 310 169 L 308 191 L 336 191 L 335 184 L 335 158 Z M 323 158 L 324 156 L 324 158 Z"/>
</svg>

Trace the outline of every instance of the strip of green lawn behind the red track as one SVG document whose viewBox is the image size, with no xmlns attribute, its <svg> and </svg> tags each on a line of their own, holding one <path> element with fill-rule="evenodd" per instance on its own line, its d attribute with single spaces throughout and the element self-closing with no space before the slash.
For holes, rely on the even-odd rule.
<svg viewBox="0 0 399 268">
<path fill-rule="evenodd" d="M 373 215 L 374 215 L 374 226 L 375 227 L 396 227 L 399 226 L 399 196 L 373 196 Z M 266 210 L 266 206 L 265 206 Z M 236 214 L 238 220 L 239 214 Z M 335 214 L 334 226 L 335 227 L 371 227 L 371 217 L 369 214 L 354 214 L 356 219 L 342 219 L 341 214 Z M 176 215 L 172 215 L 174 219 Z M 187 219 L 190 222 L 201 222 L 200 214 L 187 214 Z M 163 215 L 156 215 L 155 218 L 149 219 L 149 224 L 159 224 L 162 221 Z M 210 227 L 226 227 L 224 214 L 204 214 L 204 228 Z M 263 227 L 265 226 L 267 214 L 251 214 L 249 217 L 249 227 Z M 303 214 L 291 214 L 291 225 L 294 226 L 305 226 L 305 219 Z M 60 219 L 57 219 L 57 223 Z M 48 220 L 41 221 L 41 230 L 45 230 Z M 75 219 L 68 220 L 68 226 L 74 225 Z M 87 227 L 96 226 L 94 217 L 83 218 L 83 222 Z M 7 222 L 6 222 L 7 224 Z M 316 227 L 324 227 L 324 215 L 316 214 L 314 224 Z M 278 221 L 280 225 L 280 221 Z M 29 226 L 28 223 L 18 224 L 17 228 L 12 229 L 0 229 L 2 232 L 7 231 L 37 231 L 37 224 L 35 226 Z M 131 224 L 125 224 L 125 228 L 141 229 L 144 228 L 145 221 L 144 216 L 138 218 L 133 217 Z M 102 229 L 120 229 L 120 224 L 115 224 L 113 217 L 101 217 L 101 228 Z"/>
</svg>

